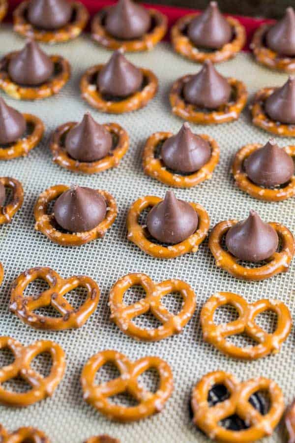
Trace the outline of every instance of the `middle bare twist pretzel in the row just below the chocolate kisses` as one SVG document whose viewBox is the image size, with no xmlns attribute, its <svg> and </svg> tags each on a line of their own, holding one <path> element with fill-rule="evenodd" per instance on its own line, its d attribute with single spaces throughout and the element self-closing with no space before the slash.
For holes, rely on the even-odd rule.
<svg viewBox="0 0 295 443">
<path fill-rule="evenodd" d="M 125 305 L 124 293 L 134 285 L 141 285 L 146 291 L 146 297 L 132 305 Z M 161 303 L 161 299 L 176 291 L 181 294 L 183 305 L 181 311 L 173 315 Z M 148 275 L 138 273 L 125 275 L 118 280 L 111 289 L 109 305 L 111 319 L 122 332 L 139 340 L 157 341 L 182 331 L 195 312 L 196 300 L 191 286 L 181 280 L 166 280 L 155 285 Z M 149 310 L 163 323 L 162 326 L 145 329 L 132 321 Z"/>
</svg>

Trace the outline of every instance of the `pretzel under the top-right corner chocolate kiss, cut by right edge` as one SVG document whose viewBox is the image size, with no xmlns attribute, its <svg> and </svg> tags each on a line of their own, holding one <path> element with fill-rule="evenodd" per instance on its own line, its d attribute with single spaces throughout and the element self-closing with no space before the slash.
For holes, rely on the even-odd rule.
<svg viewBox="0 0 295 443">
<path fill-rule="evenodd" d="M 258 63 L 265 66 L 292 74 L 295 72 L 295 57 L 280 55 L 265 45 L 265 36 L 271 24 L 261 25 L 253 35 L 250 48 Z"/>
</svg>

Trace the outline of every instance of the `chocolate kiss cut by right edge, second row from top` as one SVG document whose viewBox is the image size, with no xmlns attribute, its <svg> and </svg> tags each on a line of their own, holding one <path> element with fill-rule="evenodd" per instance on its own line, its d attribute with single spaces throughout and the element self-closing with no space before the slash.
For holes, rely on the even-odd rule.
<svg viewBox="0 0 295 443">
<path fill-rule="evenodd" d="M 265 102 L 265 111 L 274 122 L 295 124 L 295 76 L 277 88 Z"/>
</svg>

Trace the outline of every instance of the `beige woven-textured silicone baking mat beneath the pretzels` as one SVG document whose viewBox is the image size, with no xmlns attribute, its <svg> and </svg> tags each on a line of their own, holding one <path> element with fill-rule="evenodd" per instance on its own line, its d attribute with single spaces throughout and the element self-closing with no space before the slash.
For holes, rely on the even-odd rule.
<svg viewBox="0 0 295 443">
<path fill-rule="evenodd" d="M 24 44 L 23 39 L 5 26 L 0 30 L 0 42 L 1 56 Z M 66 352 L 67 370 L 52 398 L 22 410 L 0 406 L 0 422 L 9 430 L 24 425 L 36 426 L 44 430 L 52 442 L 57 443 L 80 443 L 91 435 L 104 432 L 119 438 L 122 443 L 207 442 L 207 438 L 191 422 L 189 401 L 195 383 L 207 372 L 217 369 L 235 373 L 241 380 L 259 375 L 269 377 L 283 389 L 286 403 L 290 402 L 295 395 L 293 330 L 278 354 L 252 362 L 235 361 L 204 343 L 199 315 L 202 305 L 214 292 L 233 291 L 249 302 L 264 297 L 279 298 L 295 316 L 295 264 L 291 265 L 286 274 L 260 283 L 245 283 L 215 266 L 207 241 L 197 253 L 163 261 L 146 255 L 126 238 L 125 219 L 131 203 L 148 194 L 163 197 L 168 189 L 143 173 L 141 154 L 145 140 L 152 132 L 176 132 L 180 128 L 182 121 L 171 114 L 168 91 L 177 77 L 198 71 L 200 65 L 177 56 L 168 43 L 159 44 L 149 53 L 128 55 L 132 62 L 156 73 L 159 92 L 146 108 L 134 113 L 116 116 L 92 109 L 92 115 L 98 122 L 117 122 L 127 129 L 130 149 L 117 169 L 98 175 L 76 175 L 52 162 L 50 134 L 61 123 L 81 120 L 89 110 L 87 103 L 80 98 L 79 79 L 90 65 L 104 63 L 110 57 L 110 52 L 96 46 L 87 35 L 70 43 L 46 46 L 44 49 L 48 53 L 59 53 L 70 61 L 72 79 L 59 95 L 46 100 L 22 102 L 4 97 L 19 110 L 37 114 L 47 129 L 43 141 L 27 158 L 0 163 L 0 176 L 17 178 L 25 190 L 23 207 L 12 223 L 0 228 L 0 260 L 5 270 L 0 287 L 0 334 L 10 335 L 26 345 L 38 339 L 56 341 Z M 243 80 L 251 95 L 263 86 L 281 85 L 287 78 L 284 74 L 260 67 L 245 53 L 217 68 L 223 75 L 235 75 Z M 242 220 L 247 217 L 249 209 L 253 208 L 265 221 L 284 223 L 295 232 L 294 199 L 280 203 L 259 202 L 238 190 L 230 175 L 231 161 L 239 147 L 250 142 L 266 143 L 268 139 L 267 133 L 251 125 L 248 110 L 243 112 L 237 122 L 210 127 L 193 126 L 193 129 L 195 132 L 207 133 L 218 141 L 220 163 L 211 180 L 196 188 L 176 190 L 177 197 L 202 204 L 210 215 L 211 227 L 218 221 L 232 217 Z M 283 146 L 292 141 L 281 138 L 279 144 Z M 41 191 L 60 183 L 105 189 L 114 195 L 118 203 L 118 218 L 104 239 L 78 248 L 64 248 L 34 231 L 33 205 L 36 198 Z M 85 274 L 97 281 L 101 289 L 99 305 L 81 329 L 55 333 L 36 331 L 9 313 L 9 289 L 13 279 L 33 266 L 50 266 L 62 277 Z M 183 333 L 156 343 L 140 343 L 124 335 L 110 322 L 109 290 L 119 277 L 130 272 L 144 272 L 155 282 L 177 278 L 192 285 L 196 293 L 197 310 Z M 130 291 L 127 294 L 130 301 L 141 295 Z M 71 294 L 71 300 L 73 298 Z M 165 303 L 173 311 L 179 307 L 174 297 L 166 297 Z M 228 313 L 221 310 L 217 321 L 227 321 L 228 318 Z M 137 324 L 147 326 L 155 324 L 150 316 L 143 316 L 136 321 Z M 267 330 L 273 327 L 272 317 L 262 315 L 258 321 Z M 249 344 L 249 341 L 241 337 L 237 343 Z M 81 370 L 91 355 L 107 348 L 117 349 L 131 360 L 157 355 L 171 365 L 175 389 L 160 414 L 136 423 L 117 424 L 83 401 L 79 382 Z M 8 357 L 2 355 L 1 358 L 3 363 Z M 104 380 L 112 376 L 111 372 L 108 369 L 104 371 Z M 153 384 L 153 375 L 146 375 L 143 381 Z M 16 380 L 10 385 L 12 387 L 21 390 L 24 386 Z M 124 398 L 119 400 L 129 401 Z M 268 438 L 268 442 L 282 442 L 283 439 L 283 430 L 278 429 Z"/>
</svg>

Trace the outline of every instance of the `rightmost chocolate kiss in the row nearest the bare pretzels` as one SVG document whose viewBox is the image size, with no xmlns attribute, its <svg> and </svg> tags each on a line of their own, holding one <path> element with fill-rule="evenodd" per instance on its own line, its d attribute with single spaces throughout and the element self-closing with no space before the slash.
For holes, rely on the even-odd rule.
<svg viewBox="0 0 295 443">
<path fill-rule="evenodd" d="M 251 210 L 246 220 L 228 230 L 225 242 L 229 252 L 239 260 L 260 261 L 276 251 L 279 239 L 273 227 Z"/>
</svg>

